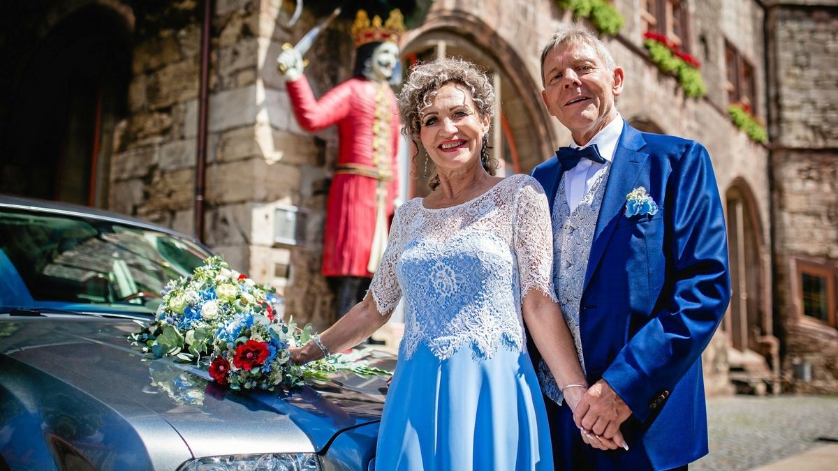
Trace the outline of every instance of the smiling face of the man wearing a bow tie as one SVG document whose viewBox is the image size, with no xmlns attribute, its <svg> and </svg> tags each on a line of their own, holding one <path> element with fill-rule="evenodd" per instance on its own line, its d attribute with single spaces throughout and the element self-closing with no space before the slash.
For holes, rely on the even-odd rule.
<svg viewBox="0 0 838 471">
<path fill-rule="evenodd" d="M 623 90 L 623 70 L 608 70 L 588 44 L 559 44 L 547 53 L 544 83 L 541 98 L 547 110 L 579 145 L 617 116 L 614 100 Z"/>
</svg>

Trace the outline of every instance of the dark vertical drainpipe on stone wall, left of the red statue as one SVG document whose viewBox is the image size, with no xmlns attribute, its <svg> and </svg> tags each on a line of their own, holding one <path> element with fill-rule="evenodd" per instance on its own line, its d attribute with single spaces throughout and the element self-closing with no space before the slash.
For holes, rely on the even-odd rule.
<svg viewBox="0 0 838 471">
<path fill-rule="evenodd" d="M 212 0 L 204 0 L 204 23 L 201 27 L 201 76 L 198 93 L 198 155 L 195 162 L 195 199 L 193 235 L 204 241 L 204 177 L 207 159 L 207 116 L 209 116 L 209 32 L 212 28 Z"/>
</svg>

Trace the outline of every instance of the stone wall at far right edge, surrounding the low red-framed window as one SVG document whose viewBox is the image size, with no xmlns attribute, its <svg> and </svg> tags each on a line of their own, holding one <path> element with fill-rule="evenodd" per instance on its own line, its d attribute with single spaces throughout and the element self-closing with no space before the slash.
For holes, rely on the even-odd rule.
<svg viewBox="0 0 838 471">
<path fill-rule="evenodd" d="M 838 3 L 799 3 L 768 13 L 776 305 L 793 390 L 835 393 L 838 330 L 803 316 L 797 265 L 838 278 Z M 810 382 L 795 377 L 803 364 Z"/>
</svg>

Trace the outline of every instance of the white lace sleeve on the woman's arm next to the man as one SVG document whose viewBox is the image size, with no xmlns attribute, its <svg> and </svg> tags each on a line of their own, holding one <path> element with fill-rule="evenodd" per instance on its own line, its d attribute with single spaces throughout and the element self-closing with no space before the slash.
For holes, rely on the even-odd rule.
<svg viewBox="0 0 838 471">
<path fill-rule="evenodd" d="M 535 288 L 557 302 L 553 289 L 550 209 L 544 189 L 531 177 L 518 189 L 514 221 L 513 248 L 518 259 L 521 299 Z"/>
</svg>

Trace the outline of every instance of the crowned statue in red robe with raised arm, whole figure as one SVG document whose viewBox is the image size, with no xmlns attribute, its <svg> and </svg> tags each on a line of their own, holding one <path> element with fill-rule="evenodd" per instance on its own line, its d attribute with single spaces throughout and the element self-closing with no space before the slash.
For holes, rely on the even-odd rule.
<svg viewBox="0 0 838 471">
<path fill-rule="evenodd" d="M 335 296 L 338 317 L 364 298 L 387 246 L 387 228 L 398 192 L 399 142 L 396 96 L 388 80 L 399 63 L 399 10 L 385 23 L 364 10 L 352 26 L 357 51 L 353 78 L 314 98 L 303 75 L 303 57 L 286 49 L 277 58 L 300 127 L 318 131 L 338 125 L 340 150 L 328 192 L 323 236 L 323 275 Z"/>
</svg>

